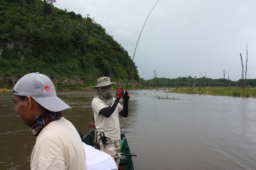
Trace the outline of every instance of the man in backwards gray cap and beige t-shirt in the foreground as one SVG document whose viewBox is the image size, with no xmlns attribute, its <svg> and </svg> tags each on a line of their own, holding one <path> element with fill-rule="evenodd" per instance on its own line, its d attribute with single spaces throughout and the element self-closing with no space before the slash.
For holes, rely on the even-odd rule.
<svg viewBox="0 0 256 170">
<path fill-rule="evenodd" d="M 62 117 L 62 111 L 71 107 L 57 97 L 50 78 L 38 72 L 27 74 L 17 82 L 12 93 L 15 111 L 36 136 L 30 168 L 86 170 L 79 134 Z"/>
</svg>

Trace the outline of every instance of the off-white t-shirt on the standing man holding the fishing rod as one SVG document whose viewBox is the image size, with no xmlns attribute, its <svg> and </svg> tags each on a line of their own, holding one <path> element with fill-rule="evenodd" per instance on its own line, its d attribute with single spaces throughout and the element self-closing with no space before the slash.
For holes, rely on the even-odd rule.
<svg viewBox="0 0 256 170">
<path fill-rule="evenodd" d="M 114 113 L 107 118 L 99 114 L 99 112 L 101 109 L 108 106 L 109 105 L 98 97 L 95 97 L 92 100 L 92 109 L 96 129 L 98 130 L 98 139 L 100 139 L 100 132 L 104 132 L 105 137 L 109 137 L 111 139 L 120 139 L 119 112 L 122 111 L 123 106 L 118 103 Z"/>
</svg>

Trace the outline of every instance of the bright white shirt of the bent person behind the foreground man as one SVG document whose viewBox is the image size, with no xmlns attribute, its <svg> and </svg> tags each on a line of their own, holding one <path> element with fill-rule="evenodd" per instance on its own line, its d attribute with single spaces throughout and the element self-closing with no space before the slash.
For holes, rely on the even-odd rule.
<svg viewBox="0 0 256 170">
<path fill-rule="evenodd" d="M 110 170 L 117 169 L 115 160 L 105 152 L 84 144 L 87 170 Z"/>
</svg>

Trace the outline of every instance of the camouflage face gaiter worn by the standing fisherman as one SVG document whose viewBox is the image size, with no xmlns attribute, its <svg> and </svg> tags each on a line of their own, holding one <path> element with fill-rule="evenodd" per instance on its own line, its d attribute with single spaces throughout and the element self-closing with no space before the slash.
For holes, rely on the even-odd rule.
<svg viewBox="0 0 256 170">
<path fill-rule="evenodd" d="M 110 105 L 113 102 L 111 87 L 105 87 L 105 88 L 98 87 L 95 97 L 100 98 L 107 105 Z"/>
</svg>

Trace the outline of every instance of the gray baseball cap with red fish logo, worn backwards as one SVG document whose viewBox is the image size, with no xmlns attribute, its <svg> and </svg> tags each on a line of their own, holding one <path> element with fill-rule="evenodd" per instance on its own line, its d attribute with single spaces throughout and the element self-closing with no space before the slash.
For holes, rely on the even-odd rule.
<svg viewBox="0 0 256 170">
<path fill-rule="evenodd" d="M 32 97 L 38 104 L 52 112 L 71 109 L 71 107 L 57 97 L 51 79 L 38 72 L 30 73 L 20 78 L 14 86 L 12 93 L 19 96 Z"/>
</svg>

